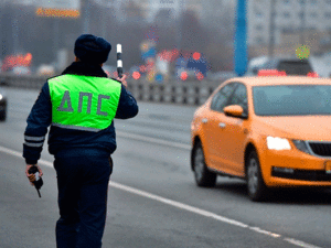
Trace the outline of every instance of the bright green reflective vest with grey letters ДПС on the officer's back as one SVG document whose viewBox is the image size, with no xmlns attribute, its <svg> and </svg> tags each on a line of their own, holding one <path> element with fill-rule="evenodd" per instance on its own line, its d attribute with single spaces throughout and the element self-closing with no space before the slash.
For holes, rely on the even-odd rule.
<svg viewBox="0 0 331 248">
<path fill-rule="evenodd" d="M 121 84 L 106 77 L 62 75 L 49 79 L 52 125 L 84 131 L 110 126 Z"/>
</svg>

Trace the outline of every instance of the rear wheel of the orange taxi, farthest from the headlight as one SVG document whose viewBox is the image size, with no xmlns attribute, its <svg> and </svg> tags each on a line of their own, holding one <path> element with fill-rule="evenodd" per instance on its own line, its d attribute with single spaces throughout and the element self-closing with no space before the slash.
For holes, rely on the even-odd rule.
<svg viewBox="0 0 331 248">
<path fill-rule="evenodd" d="M 207 169 L 200 142 L 195 144 L 193 150 L 193 171 L 197 186 L 215 186 L 217 174 Z"/>
</svg>

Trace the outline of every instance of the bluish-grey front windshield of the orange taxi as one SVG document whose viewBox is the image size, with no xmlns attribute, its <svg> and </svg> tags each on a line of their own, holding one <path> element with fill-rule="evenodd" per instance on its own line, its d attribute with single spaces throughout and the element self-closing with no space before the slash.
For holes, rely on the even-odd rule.
<svg viewBox="0 0 331 248">
<path fill-rule="evenodd" d="M 331 85 L 253 87 L 257 116 L 331 115 Z"/>
</svg>

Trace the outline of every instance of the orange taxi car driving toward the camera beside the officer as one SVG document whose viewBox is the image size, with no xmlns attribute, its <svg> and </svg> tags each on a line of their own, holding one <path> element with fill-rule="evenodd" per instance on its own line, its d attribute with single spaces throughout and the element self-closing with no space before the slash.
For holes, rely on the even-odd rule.
<svg viewBox="0 0 331 248">
<path fill-rule="evenodd" d="M 331 186 L 331 79 L 278 75 L 228 79 L 196 109 L 199 186 L 242 177 L 253 201 L 269 187 Z"/>
</svg>

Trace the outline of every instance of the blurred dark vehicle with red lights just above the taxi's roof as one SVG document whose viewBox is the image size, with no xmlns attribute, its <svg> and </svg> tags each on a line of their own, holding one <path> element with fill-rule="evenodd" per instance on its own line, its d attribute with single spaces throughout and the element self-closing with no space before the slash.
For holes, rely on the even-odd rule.
<svg viewBox="0 0 331 248">
<path fill-rule="evenodd" d="M 313 72 L 309 60 L 299 60 L 297 57 L 255 57 L 247 66 L 245 76 L 256 76 L 260 69 L 284 71 L 287 75 L 307 75 Z"/>
</svg>

